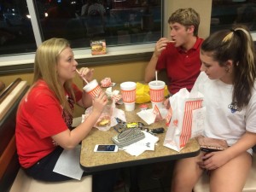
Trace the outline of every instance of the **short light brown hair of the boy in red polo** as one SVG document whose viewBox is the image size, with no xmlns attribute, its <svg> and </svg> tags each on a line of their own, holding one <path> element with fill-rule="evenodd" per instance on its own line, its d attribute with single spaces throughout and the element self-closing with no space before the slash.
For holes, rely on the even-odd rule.
<svg viewBox="0 0 256 192">
<path fill-rule="evenodd" d="M 179 23 L 183 26 L 194 26 L 194 36 L 198 36 L 198 28 L 200 24 L 200 15 L 195 9 L 177 9 L 169 18 L 168 23 Z"/>
</svg>

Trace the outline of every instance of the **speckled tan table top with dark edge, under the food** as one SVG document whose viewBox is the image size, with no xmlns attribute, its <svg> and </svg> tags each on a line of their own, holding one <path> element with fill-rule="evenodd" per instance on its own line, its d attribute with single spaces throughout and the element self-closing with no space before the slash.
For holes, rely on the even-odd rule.
<svg viewBox="0 0 256 192">
<path fill-rule="evenodd" d="M 148 103 L 148 106 L 151 107 L 151 103 Z M 119 105 L 118 108 L 124 110 L 124 105 Z M 133 156 L 123 150 L 119 150 L 116 153 L 96 153 L 94 152 L 96 144 L 113 144 L 111 137 L 117 135 L 118 132 L 115 131 L 113 127 L 110 128 L 109 131 L 99 131 L 93 128 L 81 144 L 80 166 L 84 172 L 99 172 L 127 166 L 139 166 L 168 160 L 178 160 L 192 157 L 200 153 L 200 146 L 195 139 L 190 139 L 180 152 L 166 148 L 163 145 L 167 131 L 166 120 L 163 119 L 152 125 L 147 125 L 143 119 L 137 115 L 137 112 L 140 110 L 138 104 L 136 104 L 136 109 L 132 112 L 126 112 L 124 110 L 127 122 L 143 122 L 149 129 L 158 127 L 165 128 L 164 133 L 156 136 L 159 137 L 159 142 L 155 145 L 154 151 L 145 151 L 138 156 Z"/>
</svg>

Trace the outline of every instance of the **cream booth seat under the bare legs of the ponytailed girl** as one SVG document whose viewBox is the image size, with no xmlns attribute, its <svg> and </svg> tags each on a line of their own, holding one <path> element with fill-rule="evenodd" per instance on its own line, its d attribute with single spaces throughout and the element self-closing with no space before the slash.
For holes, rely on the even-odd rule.
<svg viewBox="0 0 256 192">
<path fill-rule="evenodd" d="M 209 188 L 209 177 L 204 173 L 199 181 L 195 184 L 193 189 L 194 192 L 210 192 Z M 253 154 L 253 165 L 249 175 L 247 177 L 247 182 L 242 189 L 242 192 L 255 192 L 256 191 L 256 154 Z"/>
</svg>

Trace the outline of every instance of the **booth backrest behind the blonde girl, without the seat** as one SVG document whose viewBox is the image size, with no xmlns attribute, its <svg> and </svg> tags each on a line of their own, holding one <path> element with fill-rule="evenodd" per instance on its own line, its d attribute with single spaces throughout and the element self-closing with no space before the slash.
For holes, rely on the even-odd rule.
<svg viewBox="0 0 256 192">
<path fill-rule="evenodd" d="M 26 81 L 16 79 L 0 95 L 0 189 L 9 191 L 19 171 L 15 145 L 16 112 L 21 98 L 28 90 Z"/>
</svg>

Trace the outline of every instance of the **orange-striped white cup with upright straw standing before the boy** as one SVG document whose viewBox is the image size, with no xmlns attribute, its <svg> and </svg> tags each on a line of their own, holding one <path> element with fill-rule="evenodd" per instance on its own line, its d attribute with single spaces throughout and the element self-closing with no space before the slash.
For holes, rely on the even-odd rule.
<svg viewBox="0 0 256 192">
<path fill-rule="evenodd" d="M 152 108 L 154 108 L 154 105 L 157 105 L 158 108 L 163 108 L 166 83 L 164 81 L 154 80 L 150 81 L 148 86 Z"/>
</svg>

